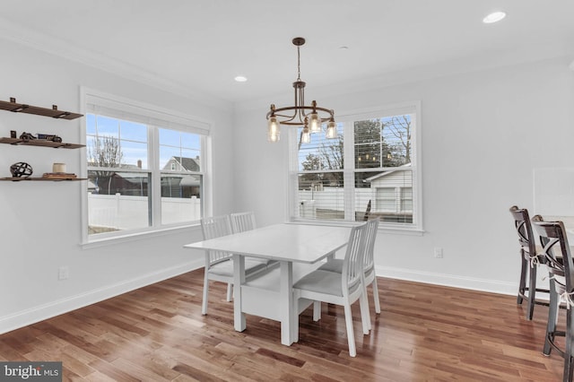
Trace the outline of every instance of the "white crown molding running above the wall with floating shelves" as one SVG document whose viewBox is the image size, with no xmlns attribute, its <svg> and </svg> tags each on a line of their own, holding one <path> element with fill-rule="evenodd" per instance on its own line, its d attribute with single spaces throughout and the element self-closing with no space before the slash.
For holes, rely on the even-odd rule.
<svg viewBox="0 0 574 382">
<path fill-rule="evenodd" d="M 2 39 L 21 44 L 28 48 L 40 50 L 82 65 L 91 66 L 128 80 L 141 82 L 148 86 L 161 89 L 162 91 L 169 91 L 179 96 L 191 98 L 198 103 L 206 104 L 206 106 L 230 105 L 230 101 L 228 100 L 223 100 L 212 94 L 204 93 L 203 91 L 195 91 L 178 82 L 162 78 L 158 76 L 158 74 L 151 73 L 137 65 L 128 64 L 117 58 L 95 53 L 90 49 L 79 47 L 64 39 L 57 39 L 46 34 L 40 34 L 35 30 L 24 28 L 2 17 L 0 17 L 0 36 Z"/>
</svg>

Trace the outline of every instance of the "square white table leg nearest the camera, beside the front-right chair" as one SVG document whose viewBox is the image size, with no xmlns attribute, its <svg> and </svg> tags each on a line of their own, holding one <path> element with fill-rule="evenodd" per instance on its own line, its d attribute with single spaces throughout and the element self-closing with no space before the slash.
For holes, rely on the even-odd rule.
<svg viewBox="0 0 574 382">
<path fill-rule="evenodd" d="M 280 262 L 279 309 L 281 315 L 281 343 L 290 346 L 293 343 L 293 263 Z"/>
</svg>

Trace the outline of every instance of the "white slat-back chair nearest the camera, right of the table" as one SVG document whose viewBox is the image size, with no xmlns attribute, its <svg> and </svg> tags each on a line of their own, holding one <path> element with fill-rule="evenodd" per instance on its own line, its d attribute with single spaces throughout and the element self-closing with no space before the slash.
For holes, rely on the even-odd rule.
<svg viewBox="0 0 574 382">
<path fill-rule="evenodd" d="M 299 300 L 307 299 L 323 301 L 344 306 L 344 319 L 349 342 L 349 355 L 355 357 L 355 336 L 352 328 L 351 305 L 356 300 L 361 305 L 362 333 L 369 334 L 369 304 L 363 285 L 363 256 L 365 253 L 365 238 L 367 224 L 352 227 L 349 243 L 344 256 L 342 273 L 317 269 L 303 276 L 293 285 L 293 311 L 299 311 Z M 316 318 L 316 308 L 313 308 L 313 319 Z M 295 338 L 299 338 L 299 314 L 294 313 Z"/>
</svg>

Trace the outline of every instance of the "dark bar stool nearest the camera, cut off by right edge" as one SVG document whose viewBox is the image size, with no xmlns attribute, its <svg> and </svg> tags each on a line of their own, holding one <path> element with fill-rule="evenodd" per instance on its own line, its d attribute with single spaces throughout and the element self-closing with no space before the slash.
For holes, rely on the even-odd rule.
<svg viewBox="0 0 574 382">
<path fill-rule="evenodd" d="M 542 256 L 550 276 L 550 306 L 543 352 L 550 355 L 554 349 L 564 358 L 562 380 L 571 382 L 574 371 L 574 263 L 570 244 L 562 221 L 543 221 L 540 215 L 535 215 L 532 223 L 544 245 Z M 566 304 L 566 328 L 559 331 L 557 326 L 562 302 Z M 556 342 L 557 336 L 565 337 L 560 342 L 563 347 Z"/>
</svg>

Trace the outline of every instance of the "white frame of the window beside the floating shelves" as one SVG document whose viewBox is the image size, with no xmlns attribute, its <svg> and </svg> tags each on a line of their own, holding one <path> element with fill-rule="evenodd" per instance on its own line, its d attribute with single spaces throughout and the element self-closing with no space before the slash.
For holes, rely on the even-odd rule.
<svg viewBox="0 0 574 382">
<path fill-rule="evenodd" d="M 149 213 L 151 214 L 151 225 L 133 229 L 133 230 L 119 230 L 114 232 L 100 233 L 98 235 L 89 235 L 89 211 L 88 211 L 88 192 L 87 182 L 82 190 L 82 241 L 83 247 L 98 246 L 109 242 L 117 242 L 122 240 L 137 239 L 141 236 L 156 236 L 163 235 L 171 230 L 186 229 L 190 226 L 196 226 L 198 221 L 182 221 L 169 224 L 161 223 L 161 174 L 162 173 L 178 173 L 178 171 L 171 171 L 170 169 L 164 170 L 160 167 L 160 140 L 159 130 L 172 129 L 180 132 L 200 135 L 202 164 L 200 171 L 192 171 L 188 175 L 199 175 L 202 177 L 201 185 L 201 215 L 212 211 L 213 200 L 213 187 L 211 177 L 211 126 L 210 122 L 201 120 L 197 117 L 189 116 L 174 110 L 163 109 L 156 105 L 143 103 L 137 100 L 129 100 L 103 91 L 93 90 L 87 87 L 81 87 L 81 107 L 84 116 L 88 114 L 101 114 L 108 116 L 105 112 L 94 113 L 91 106 L 96 105 L 102 109 L 115 109 L 117 113 L 124 113 L 125 117 L 118 117 L 111 115 L 109 117 L 117 119 L 125 119 L 144 123 L 147 128 L 147 166 L 145 169 L 119 169 L 124 172 L 149 174 L 151 185 L 149 185 Z M 136 119 L 130 118 L 130 116 Z M 146 122 L 142 122 L 145 119 Z M 87 118 L 83 118 L 81 124 L 81 143 L 87 142 Z M 86 149 L 87 150 L 87 149 Z M 87 152 L 82 151 L 81 173 L 83 178 L 87 178 L 88 170 L 93 169 L 88 166 Z M 113 168 L 117 171 L 117 168 Z"/>
</svg>

